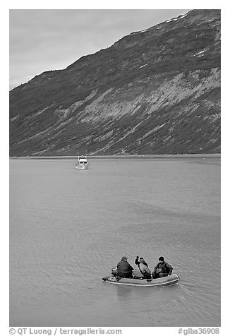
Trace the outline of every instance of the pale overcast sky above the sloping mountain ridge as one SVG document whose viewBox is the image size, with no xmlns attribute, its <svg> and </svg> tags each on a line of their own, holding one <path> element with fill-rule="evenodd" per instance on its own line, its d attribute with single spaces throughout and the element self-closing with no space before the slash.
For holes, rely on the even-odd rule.
<svg viewBox="0 0 230 336">
<path fill-rule="evenodd" d="M 10 90 L 189 9 L 11 9 Z"/>
</svg>

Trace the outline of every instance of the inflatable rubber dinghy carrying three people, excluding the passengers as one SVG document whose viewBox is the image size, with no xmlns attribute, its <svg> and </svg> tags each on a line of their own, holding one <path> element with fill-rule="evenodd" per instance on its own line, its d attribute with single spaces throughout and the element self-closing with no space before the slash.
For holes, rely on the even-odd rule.
<svg viewBox="0 0 230 336">
<path fill-rule="evenodd" d="M 171 286 L 177 284 L 180 278 L 176 274 L 168 275 L 167 277 L 159 277 L 157 279 L 143 279 L 143 277 L 117 277 L 116 275 L 109 275 L 102 277 L 104 282 L 109 284 L 126 284 L 126 286 L 141 286 L 141 287 L 157 287 L 157 286 Z"/>
</svg>

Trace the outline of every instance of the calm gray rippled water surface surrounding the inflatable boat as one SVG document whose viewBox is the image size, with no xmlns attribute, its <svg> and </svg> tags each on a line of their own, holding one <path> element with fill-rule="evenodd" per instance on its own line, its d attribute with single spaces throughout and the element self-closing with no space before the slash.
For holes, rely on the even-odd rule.
<svg viewBox="0 0 230 336">
<path fill-rule="evenodd" d="M 219 326 L 220 159 L 10 160 L 10 325 Z M 102 282 L 121 256 L 172 287 Z"/>
</svg>

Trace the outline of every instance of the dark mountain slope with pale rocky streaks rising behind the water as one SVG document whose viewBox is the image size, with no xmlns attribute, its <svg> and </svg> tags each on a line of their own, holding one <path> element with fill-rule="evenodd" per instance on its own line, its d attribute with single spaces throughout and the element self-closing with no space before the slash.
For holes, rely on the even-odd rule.
<svg viewBox="0 0 230 336">
<path fill-rule="evenodd" d="M 10 92 L 10 155 L 220 152 L 220 11 L 123 37 Z"/>
</svg>

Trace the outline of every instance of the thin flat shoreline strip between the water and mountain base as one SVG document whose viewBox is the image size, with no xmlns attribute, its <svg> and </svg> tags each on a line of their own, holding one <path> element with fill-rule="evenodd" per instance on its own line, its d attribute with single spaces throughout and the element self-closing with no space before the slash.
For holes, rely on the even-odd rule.
<svg viewBox="0 0 230 336">
<path fill-rule="evenodd" d="M 76 160 L 75 156 L 17 156 L 9 157 L 13 160 Z M 159 155 L 87 155 L 90 160 L 116 160 L 116 159 L 198 159 L 198 158 L 221 158 L 221 153 L 214 154 L 159 154 Z"/>
</svg>

